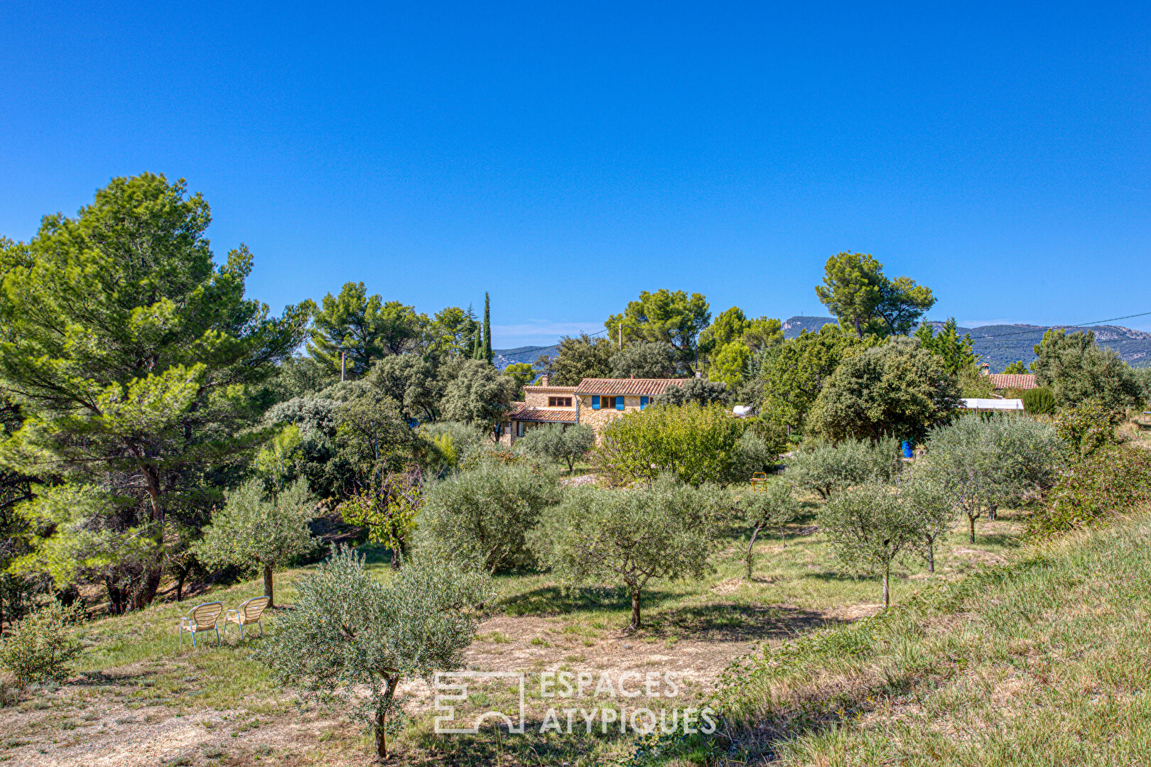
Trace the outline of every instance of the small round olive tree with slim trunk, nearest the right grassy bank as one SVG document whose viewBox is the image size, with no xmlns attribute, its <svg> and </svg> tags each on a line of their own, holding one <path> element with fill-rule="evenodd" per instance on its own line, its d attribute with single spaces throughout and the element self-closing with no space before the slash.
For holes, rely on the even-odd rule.
<svg viewBox="0 0 1151 767">
<path fill-rule="evenodd" d="M 923 539 L 923 516 L 891 485 L 868 482 L 833 496 L 818 519 L 836 559 L 883 578 L 887 607 L 891 565 Z"/>
</svg>

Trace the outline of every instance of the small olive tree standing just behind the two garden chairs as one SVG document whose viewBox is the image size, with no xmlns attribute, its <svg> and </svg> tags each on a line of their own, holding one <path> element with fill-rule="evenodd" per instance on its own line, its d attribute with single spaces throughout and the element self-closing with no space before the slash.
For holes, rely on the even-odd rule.
<svg viewBox="0 0 1151 767">
<path fill-rule="evenodd" d="M 250 480 L 226 494 L 195 551 L 208 567 L 234 565 L 264 572 L 264 596 L 273 605 L 272 573 L 315 549 L 307 523 L 315 501 L 304 480 L 266 498 L 264 483 Z"/>
</svg>

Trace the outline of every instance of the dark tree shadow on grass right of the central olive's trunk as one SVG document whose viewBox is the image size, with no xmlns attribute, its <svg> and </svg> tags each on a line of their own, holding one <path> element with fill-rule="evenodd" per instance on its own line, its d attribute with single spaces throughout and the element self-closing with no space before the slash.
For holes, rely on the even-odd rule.
<svg viewBox="0 0 1151 767">
<path fill-rule="evenodd" d="M 782 639 L 828 626 L 846 623 L 821 612 L 764 605 L 702 605 L 654 613 L 646 627 L 654 636 L 679 636 L 703 642 Z"/>
</svg>

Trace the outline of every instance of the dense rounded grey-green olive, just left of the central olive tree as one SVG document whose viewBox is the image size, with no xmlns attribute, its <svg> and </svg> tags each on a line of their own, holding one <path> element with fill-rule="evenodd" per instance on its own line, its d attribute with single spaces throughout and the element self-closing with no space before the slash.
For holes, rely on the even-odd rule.
<svg viewBox="0 0 1151 767">
<path fill-rule="evenodd" d="M 555 481 L 523 462 L 486 458 L 433 484 L 418 531 L 428 555 L 498 573 L 534 563 L 525 535 L 559 498 Z"/>
</svg>

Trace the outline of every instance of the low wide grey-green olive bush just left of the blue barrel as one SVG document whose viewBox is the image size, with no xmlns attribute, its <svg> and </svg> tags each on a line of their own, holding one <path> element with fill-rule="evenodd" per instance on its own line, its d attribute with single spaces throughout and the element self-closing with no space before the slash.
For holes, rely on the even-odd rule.
<svg viewBox="0 0 1151 767">
<path fill-rule="evenodd" d="M 813 440 L 792 451 L 787 481 L 826 500 L 866 482 L 890 482 L 902 468 L 899 455 L 899 440 L 892 438 Z"/>
</svg>

